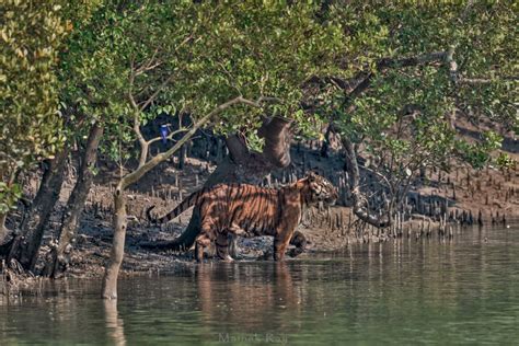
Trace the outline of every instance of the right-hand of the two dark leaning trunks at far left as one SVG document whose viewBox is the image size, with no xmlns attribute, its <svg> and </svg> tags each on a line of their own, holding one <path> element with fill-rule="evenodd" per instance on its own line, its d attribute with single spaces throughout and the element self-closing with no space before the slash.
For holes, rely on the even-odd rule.
<svg viewBox="0 0 519 346">
<path fill-rule="evenodd" d="M 50 251 L 50 258 L 44 269 L 45 276 L 56 277 L 66 269 L 68 263 L 68 258 L 66 257 L 68 257 L 70 253 L 70 251 L 68 251 L 70 249 L 70 242 L 76 237 L 78 221 L 84 209 L 84 204 L 94 178 L 94 172 L 92 170 L 97 160 L 97 147 L 102 137 L 103 127 L 99 124 L 92 125 L 89 139 L 86 140 L 86 147 L 83 151 L 81 166 L 78 172 L 78 181 L 76 182 L 76 186 L 65 209 L 64 221 L 59 230 L 58 245 Z"/>
</svg>

